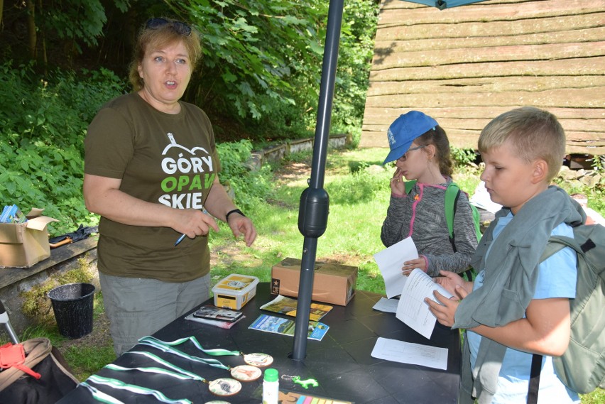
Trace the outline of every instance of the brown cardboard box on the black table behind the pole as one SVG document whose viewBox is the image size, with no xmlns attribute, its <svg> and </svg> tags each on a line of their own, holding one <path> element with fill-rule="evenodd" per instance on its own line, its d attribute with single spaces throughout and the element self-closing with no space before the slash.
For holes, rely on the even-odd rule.
<svg viewBox="0 0 605 404">
<path fill-rule="evenodd" d="M 285 258 L 271 268 L 271 293 L 298 297 L 301 261 Z M 356 266 L 315 262 L 312 300 L 346 306 L 355 295 Z"/>
</svg>

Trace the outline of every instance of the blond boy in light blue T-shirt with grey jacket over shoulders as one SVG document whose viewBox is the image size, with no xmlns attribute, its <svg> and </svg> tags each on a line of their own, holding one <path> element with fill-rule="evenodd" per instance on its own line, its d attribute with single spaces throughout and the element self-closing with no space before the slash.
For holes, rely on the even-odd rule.
<svg viewBox="0 0 605 404">
<path fill-rule="evenodd" d="M 526 403 L 533 354 L 543 355 L 538 403 L 579 403 L 552 365 L 569 344 L 577 256 L 566 247 L 540 262 L 550 236 L 573 237 L 572 227 L 586 220 L 577 202 L 550 185 L 565 132 L 547 111 L 513 109 L 481 131 L 479 151 L 481 180 L 503 209 L 472 258 L 474 282 L 442 271 L 436 281 L 457 298 L 427 300 L 441 324 L 467 330 L 459 403 Z"/>
</svg>

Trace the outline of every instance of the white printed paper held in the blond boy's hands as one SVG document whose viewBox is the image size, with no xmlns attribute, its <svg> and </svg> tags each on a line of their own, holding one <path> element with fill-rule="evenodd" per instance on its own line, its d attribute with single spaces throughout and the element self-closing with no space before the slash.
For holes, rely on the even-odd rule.
<svg viewBox="0 0 605 404">
<path fill-rule="evenodd" d="M 433 290 L 437 290 L 448 299 L 452 297 L 442 285 L 435 283 L 429 275 L 416 268 L 410 273 L 407 282 L 405 282 L 396 312 L 396 317 L 399 320 L 428 339 L 430 339 L 432 330 L 435 329 L 437 319 L 430 312 L 425 297 L 435 300 L 435 296 L 432 294 Z"/>
</svg>

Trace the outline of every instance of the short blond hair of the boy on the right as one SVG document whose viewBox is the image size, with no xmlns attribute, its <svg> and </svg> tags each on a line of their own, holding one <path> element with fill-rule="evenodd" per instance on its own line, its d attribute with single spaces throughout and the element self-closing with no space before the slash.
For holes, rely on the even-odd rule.
<svg viewBox="0 0 605 404">
<path fill-rule="evenodd" d="M 481 131 L 479 152 L 489 152 L 507 141 L 527 163 L 545 160 L 548 181 L 559 173 L 565 157 L 565 131 L 555 115 L 535 107 L 505 112 Z"/>
</svg>

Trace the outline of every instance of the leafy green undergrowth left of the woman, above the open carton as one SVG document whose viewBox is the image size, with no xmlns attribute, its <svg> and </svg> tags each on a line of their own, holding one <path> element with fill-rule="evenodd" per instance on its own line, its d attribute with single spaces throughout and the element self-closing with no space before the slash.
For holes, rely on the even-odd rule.
<svg viewBox="0 0 605 404">
<path fill-rule="evenodd" d="M 121 92 L 113 73 L 55 72 L 53 80 L 30 80 L 28 66 L 0 66 L 0 200 L 23 211 L 44 208 L 64 234 L 96 218 L 82 201 L 83 141 L 99 107 Z"/>
</svg>

